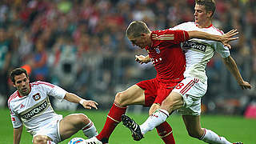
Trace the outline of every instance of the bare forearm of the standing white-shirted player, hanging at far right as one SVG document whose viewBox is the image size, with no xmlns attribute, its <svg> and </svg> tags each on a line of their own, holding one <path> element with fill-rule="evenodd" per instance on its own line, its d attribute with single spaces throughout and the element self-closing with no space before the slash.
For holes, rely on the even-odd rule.
<svg viewBox="0 0 256 144">
<path fill-rule="evenodd" d="M 227 58 L 224 58 L 225 66 L 228 70 L 230 70 L 230 73 L 234 76 L 234 78 L 237 80 L 237 82 L 240 84 L 243 82 L 242 76 L 238 70 L 238 66 L 236 62 L 234 62 L 234 59 L 230 56 Z"/>
</svg>

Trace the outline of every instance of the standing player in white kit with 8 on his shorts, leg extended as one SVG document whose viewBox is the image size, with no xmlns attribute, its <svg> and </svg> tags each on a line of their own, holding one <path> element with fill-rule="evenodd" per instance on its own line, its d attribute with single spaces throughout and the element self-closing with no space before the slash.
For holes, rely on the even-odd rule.
<svg viewBox="0 0 256 144">
<path fill-rule="evenodd" d="M 182 23 L 172 30 L 198 30 L 209 34 L 223 34 L 222 31 L 212 25 L 212 16 L 215 10 L 214 0 L 196 0 L 194 10 L 195 22 Z M 222 43 L 193 38 L 184 42 L 182 48 L 186 51 L 184 80 L 174 88 L 162 102 L 162 106 L 154 114 L 151 114 L 141 126 L 138 126 L 134 120 L 126 115 L 122 115 L 122 122 L 133 131 L 135 138 L 143 138 L 143 134 L 165 122 L 172 111 L 178 110 L 178 113 L 182 114 L 186 130 L 191 137 L 207 143 L 230 144 L 231 142 L 227 141 L 226 138 L 219 137 L 212 130 L 202 128 L 200 124 L 201 98 L 206 94 L 207 89 L 206 63 L 210 61 L 214 51 L 216 51 L 222 56 L 223 62 L 242 90 L 250 89 L 250 83 L 243 80 L 234 59 L 230 56 L 229 49 Z"/>
</svg>

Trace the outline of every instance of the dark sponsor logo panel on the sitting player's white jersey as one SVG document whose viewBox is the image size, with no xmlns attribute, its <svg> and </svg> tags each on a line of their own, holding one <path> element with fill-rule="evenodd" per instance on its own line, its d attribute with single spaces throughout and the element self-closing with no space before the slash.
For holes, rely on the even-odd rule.
<svg viewBox="0 0 256 144">
<path fill-rule="evenodd" d="M 34 117 L 34 115 L 41 113 L 43 110 L 46 110 L 47 106 L 47 102 L 44 101 L 39 106 L 34 107 L 34 109 L 30 110 L 26 114 L 22 114 L 21 117 L 24 119 L 30 119 Z"/>
</svg>

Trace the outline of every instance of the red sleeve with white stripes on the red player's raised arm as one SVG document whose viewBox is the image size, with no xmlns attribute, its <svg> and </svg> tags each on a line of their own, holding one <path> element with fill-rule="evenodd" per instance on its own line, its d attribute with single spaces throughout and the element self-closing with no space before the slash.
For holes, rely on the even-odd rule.
<svg viewBox="0 0 256 144">
<path fill-rule="evenodd" d="M 189 40 L 190 36 L 185 30 L 154 30 L 152 32 L 152 39 L 170 42 L 173 44 L 178 44 L 181 42 L 186 42 Z"/>
</svg>

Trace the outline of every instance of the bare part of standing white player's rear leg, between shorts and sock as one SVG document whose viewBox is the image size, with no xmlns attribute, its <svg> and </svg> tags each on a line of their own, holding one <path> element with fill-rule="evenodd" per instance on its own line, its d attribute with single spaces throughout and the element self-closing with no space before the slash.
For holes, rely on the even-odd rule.
<svg viewBox="0 0 256 144">
<path fill-rule="evenodd" d="M 200 138 L 204 133 L 201 127 L 200 115 L 182 115 L 182 118 L 190 136 Z"/>
</svg>

